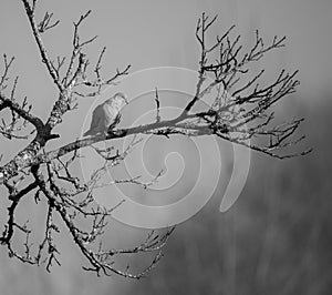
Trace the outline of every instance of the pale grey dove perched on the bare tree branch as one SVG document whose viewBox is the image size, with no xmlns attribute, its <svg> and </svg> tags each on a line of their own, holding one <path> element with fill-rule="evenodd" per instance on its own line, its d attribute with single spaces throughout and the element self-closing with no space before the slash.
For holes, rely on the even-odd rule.
<svg viewBox="0 0 332 295">
<path fill-rule="evenodd" d="M 128 103 L 125 94 L 118 92 L 111 99 L 97 105 L 92 113 L 90 129 L 83 136 L 107 133 L 110 128 L 112 129 L 118 123 L 121 118 L 120 110 L 125 103 Z"/>
</svg>

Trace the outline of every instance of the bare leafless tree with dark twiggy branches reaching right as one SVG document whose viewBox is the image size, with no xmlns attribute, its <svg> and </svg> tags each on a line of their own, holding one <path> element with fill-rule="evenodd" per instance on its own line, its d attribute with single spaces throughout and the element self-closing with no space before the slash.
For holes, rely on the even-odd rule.
<svg viewBox="0 0 332 295">
<path fill-rule="evenodd" d="M 295 91 L 295 87 L 299 84 L 295 79 L 297 72 L 287 73 L 282 70 L 276 81 L 264 87 L 258 82 L 263 70 L 249 80 L 249 75 L 247 75 L 249 63 L 260 60 L 269 51 L 283 47 L 286 39 L 274 37 L 271 43 L 264 44 L 257 31 L 253 45 L 243 53 L 240 37 L 231 38 L 234 31 L 234 27 L 231 27 L 224 35 L 217 37 L 212 44 L 208 44 L 207 32 L 215 23 L 216 18 L 209 19 L 204 13 L 196 28 L 196 38 L 200 45 L 197 87 L 195 95 L 178 116 L 163 120 L 156 91 L 156 119 L 154 122 L 127 129 L 110 129 L 107 134 L 75 140 L 59 146 L 56 150 L 48 149 L 50 141 L 56 141 L 61 136 L 61 134 L 53 133 L 53 129 L 62 123 L 64 114 L 79 108 L 80 98 L 97 96 L 103 89 L 126 75 L 129 65 L 124 70 L 116 70 L 111 77 L 102 77 L 104 48 L 96 64 L 91 67 L 84 49 L 93 43 L 95 37 L 83 41 L 79 33 L 80 26 L 91 11 L 81 16 L 79 21 L 74 23 L 72 52 L 69 59 L 61 57 L 56 57 L 55 60 L 51 59 L 42 41 L 42 35 L 54 29 L 59 21 L 53 21 L 53 13 L 49 12 L 45 12 L 44 17 L 38 21 L 35 18 L 38 1 L 21 1 L 32 35 L 38 44 L 41 61 L 45 64 L 59 96 L 50 110 L 48 120 L 43 122 L 33 114 L 32 105 L 28 103 L 27 98 L 22 102 L 17 101 L 18 78 L 11 80 L 9 77 L 14 58 L 3 55 L 0 111 L 9 111 L 10 120 L 2 119 L 0 133 L 7 140 L 25 139 L 29 141 L 28 145 L 19 151 L 12 160 L 0 166 L 0 185 L 7 187 L 8 200 L 10 201 L 8 221 L 0 243 L 8 247 L 10 256 L 29 264 L 45 263 L 48 271 L 52 264 L 59 264 L 60 253 L 53 238 L 54 233 L 59 232 L 59 226 L 53 220 L 53 216 L 58 214 L 69 230 L 75 245 L 87 260 L 89 266 L 84 269 L 94 271 L 96 274 L 116 273 L 126 277 L 139 278 L 159 261 L 162 257 L 160 250 L 174 228 L 168 228 L 163 235 L 152 233 L 144 243 L 133 248 L 105 250 L 103 247 L 101 242 L 103 231 L 107 224 L 106 220 L 114 208 L 105 210 L 93 202 L 94 187 L 105 167 L 112 167 L 122 162 L 134 148 L 136 141 L 132 141 L 124 152 L 95 149 L 105 160 L 105 165 L 95 171 L 89 181 L 84 182 L 73 175 L 71 164 L 77 161 L 79 150 L 92 146 L 93 143 L 139 133 L 162 136 L 170 136 L 172 134 L 210 135 L 246 145 L 248 149 L 278 159 L 304 155 L 310 152 L 308 150 L 300 153 L 281 154 L 280 150 L 304 139 L 304 136 L 292 139 L 303 119 L 276 125 L 273 124 L 274 113 L 268 113 L 280 99 Z M 212 77 L 212 79 L 208 80 L 208 77 Z M 245 83 L 240 85 L 243 80 Z M 193 112 L 193 106 L 197 101 L 212 89 L 216 89 L 218 94 L 209 109 L 204 112 Z M 29 125 L 33 126 L 34 132 L 27 133 Z M 243 126 L 248 128 L 243 129 Z M 266 144 L 255 144 L 252 143 L 255 142 L 253 139 L 267 139 L 267 141 L 258 141 L 260 143 L 266 142 Z M 126 181 L 124 180 L 124 182 Z M 135 179 L 128 180 L 128 182 L 142 184 Z M 24 185 L 22 185 L 23 183 Z M 48 204 L 44 235 L 37 248 L 30 242 L 32 230 L 27 224 L 19 224 L 15 220 L 15 210 L 24 197 L 34 197 L 37 203 L 44 197 Z M 82 216 L 91 222 L 89 231 L 80 227 L 77 220 Z M 12 242 L 17 232 L 24 235 L 23 253 L 15 250 Z M 115 255 L 147 252 L 155 253 L 155 257 L 142 272 L 133 274 L 128 268 L 118 269 L 113 264 Z"/>
</svg>

